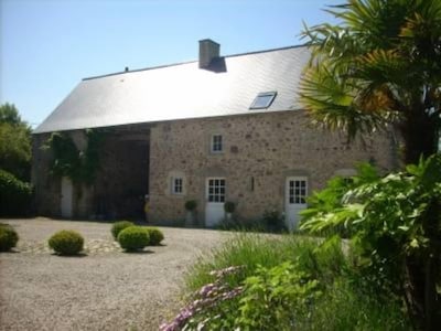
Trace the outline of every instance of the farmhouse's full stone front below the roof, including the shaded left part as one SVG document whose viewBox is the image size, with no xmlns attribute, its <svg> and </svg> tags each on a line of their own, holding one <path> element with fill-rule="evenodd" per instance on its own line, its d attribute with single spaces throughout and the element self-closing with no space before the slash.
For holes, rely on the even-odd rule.
<svg viewBox="0 0 441 331">
<path fill-rule="evenodd" d="M 197 225 L 204 226 L 206 179 L 216 177 L 226 180 L 226 201 L 236 203 L 236 217 L 256 220 L 265 211 L 284 211 L 287 177 L 308 177 L 311 193 L 357 162 L 374 162 L 384 172 L 397 166 L 390 132 L 347 145 L 343 134 L 312 127 L 304 111 L 120 126 L 107 132 L 96 182 L 74 194 L 73 217 L 140 218 L 149 193 L 149 221 L 183 224 L 184 203 L 196 200 Z M 69 135 L 84 150 L 84 130 Z M 220 153 L 211 151 L 213 135 L 223 136 Z M 35 203 L 40 215 L 60 216 L 61 179 L 51 174 L 51 153 L 41 149 L 49 137 L 34 136 Z M 172 193 L 175 177 L 183 179 L 181 194 Z"/>
</svg>

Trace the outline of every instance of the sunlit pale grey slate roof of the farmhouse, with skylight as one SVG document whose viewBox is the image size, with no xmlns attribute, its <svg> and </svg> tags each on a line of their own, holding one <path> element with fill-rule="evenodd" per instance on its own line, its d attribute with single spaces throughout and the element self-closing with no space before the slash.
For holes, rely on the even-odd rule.
<svg viewBox="0 0 441 331">
<path fill-rule="evenodd" d="M 84 78 L 34 134 L 299 109 L 309 58 L 306 47 L 292 46 L 224 56 L 215 71 L 195 61 Z M 271 106 L 250 110 L 265 92 L 277 92 Z"/>
</svg>

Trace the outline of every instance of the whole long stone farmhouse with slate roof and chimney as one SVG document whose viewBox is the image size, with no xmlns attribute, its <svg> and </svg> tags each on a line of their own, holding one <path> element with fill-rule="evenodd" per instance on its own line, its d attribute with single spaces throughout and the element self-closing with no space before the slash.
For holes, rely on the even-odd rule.
<svg viewBox="0 0 441 331">
<path fill-rule="evenodd" d="M 391 132 L 351 145 L 342 134 L 312 127 L 298 88 L 310 58 L 304 46 L 220 56 L 200 41 L 198 61 L 84 78 L 34 131 L 33 182 L 42 215 L 121 218 L 142 215 L 179 224 L 184 203 L 197 202 L 200 226 L 215 226 L 234 202 L 235 217 L 266 211 L 299 222 L 305 197 L 357 162 L 394 169 Z M 87 145 L 85 129 L 106 131 L 95 182 L 76 192 L 51 174 L 41 147 L 52 132 Z"/>
</svg>

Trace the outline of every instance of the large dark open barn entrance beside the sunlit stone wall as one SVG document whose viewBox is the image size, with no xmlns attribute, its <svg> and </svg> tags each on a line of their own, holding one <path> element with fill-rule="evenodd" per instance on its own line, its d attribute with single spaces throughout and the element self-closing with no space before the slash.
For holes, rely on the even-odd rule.
<svg viewBox="0 0 441 331">
<path fill-rule="evenodd" d="M 141 220 L 149 193 L 150 128 L 110 128 L 105 137 L 94 190 L 95 215 L 101 220 Z"/>
</svg>

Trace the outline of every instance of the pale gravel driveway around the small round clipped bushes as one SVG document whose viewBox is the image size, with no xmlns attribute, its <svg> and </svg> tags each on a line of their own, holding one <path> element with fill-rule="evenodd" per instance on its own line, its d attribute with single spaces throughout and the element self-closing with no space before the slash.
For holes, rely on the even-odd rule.
<svg viewBox="0 0 441 331">
<path fill-rule="evenodd" d="M 0 254 L 0 330 L 158 330 L 170 319 L 186 267 L 227 234 L 161 228 L 164 246 L 125 254 L 110 224 L 0 220 L 20 236 Z M 58 229 L 85 237 L 86 255 L 60 257 L 46 241 Z"/>
</svg>

